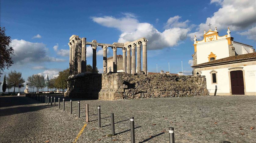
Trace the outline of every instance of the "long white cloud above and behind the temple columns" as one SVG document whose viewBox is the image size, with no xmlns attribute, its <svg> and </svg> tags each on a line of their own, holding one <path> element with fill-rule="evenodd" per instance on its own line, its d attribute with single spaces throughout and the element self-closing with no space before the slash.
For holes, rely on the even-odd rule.
<svg viewBox="0 0 256 143">
<path fill-rule="evenodd" d="M 122 33 L 118 42 L 121 43 L 146 37 L 147 48 L 151 50 L 176 46 L 187 38 L 187 33 L 190 31 L 189 28 L 172 27 L 159 32 L 150 23 L 140 23 L 135 17 L 129 15 L 119 19 L 112 16 L 92 17 L 92 20 L 102 26 L 119 29 Z"/>
</svg>

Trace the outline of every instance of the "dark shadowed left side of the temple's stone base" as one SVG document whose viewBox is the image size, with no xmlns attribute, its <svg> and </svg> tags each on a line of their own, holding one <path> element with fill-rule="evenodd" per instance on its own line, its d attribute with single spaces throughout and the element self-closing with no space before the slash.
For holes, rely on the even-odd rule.
<svg viewBox="0 0 256 143">
<path fill-rule="evenodd" d="M 65 97 L 83 97 L 98 99 L 98 93 L 101 90 L 101 74 L 81 73 L 70 77 L 68 82 L 68 91 Z"/>
</svg>

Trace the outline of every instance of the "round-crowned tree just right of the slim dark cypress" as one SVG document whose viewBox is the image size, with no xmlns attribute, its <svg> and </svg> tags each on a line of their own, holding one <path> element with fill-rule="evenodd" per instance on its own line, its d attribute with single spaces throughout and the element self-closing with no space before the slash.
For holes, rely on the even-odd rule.
<svg viewBox="0 0 256 143">
<path fill-rule="evenodd" d="M 14 87 L 13 93 L 15 93 L 15 87 L 19 86 L 19 83 L 21 83 L 21 87 L 24 87 L 25 80 L 21 77 L 20 72 L 16 72 L 15 70 L 8 73 L 7 77 L 8 83 Z"/>
</svg>

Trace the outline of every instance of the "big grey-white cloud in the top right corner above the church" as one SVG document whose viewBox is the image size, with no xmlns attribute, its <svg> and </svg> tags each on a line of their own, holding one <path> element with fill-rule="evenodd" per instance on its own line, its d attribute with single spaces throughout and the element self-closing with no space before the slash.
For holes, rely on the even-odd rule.
<svg viewBox="0 0 256 143">
<path fill-rule="evenodd" d="M 212 29 L 217 27 L 219 30 L 230 28 L 231 31 L 247 30 L 251 26 L 255 26 L 256 21 L 256 2 L 251 0 L 212 0 L 212 3 L 220 5 L 221 8 L 214 12 L 212 17 L 208 17 L 205 23 L 201 23 L 197 27 L 197 32 L 190 33 L 189 36 L 193 39 L 194 35 L 201 38 L 204 34 L 204 29 L 209 29 L 209 23 L 212 24 Z M 231 34 L 232 35 L 232 34 Z M 256 35 L 254 32 L 253 35 Z"/>
</svg>

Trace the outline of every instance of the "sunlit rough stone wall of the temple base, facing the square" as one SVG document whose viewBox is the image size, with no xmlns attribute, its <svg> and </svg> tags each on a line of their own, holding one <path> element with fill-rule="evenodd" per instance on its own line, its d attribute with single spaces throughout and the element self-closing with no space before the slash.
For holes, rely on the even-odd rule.
<svg viewBox="0 0 256 143">
<path fill-rule="evenodd" d="M 123 84 L 127 85 L 126 89 L 123 89 Z M 170 94 L 182 97 L 194 96 L 195 92 L 196 95 L 208 95 L 205 77 L 106 73 L 102 74 L 99 99 L 169 97 Z"/>
</svg>

